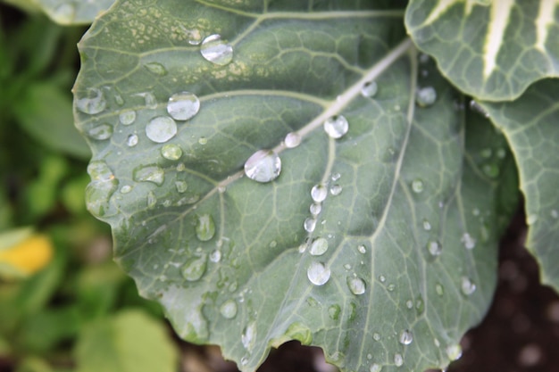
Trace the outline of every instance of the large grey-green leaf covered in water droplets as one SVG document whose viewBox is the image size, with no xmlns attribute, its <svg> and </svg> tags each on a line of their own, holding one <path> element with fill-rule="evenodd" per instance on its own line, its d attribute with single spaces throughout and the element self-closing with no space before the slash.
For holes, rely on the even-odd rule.
<svg viewBox="0 0 559 372">
<path fill-rule="evenodd" d="M 470 138 L 505 143 L 475 113 L 465 138 L 463 98 L 420 65 L 403 12 L 313 4 L 99 18 L 74 87 L 88 209 L 179 335 L 245 371 L 288 339 L 346 371 L 444 367 L 493 294 L 508 186 Z M 197 45 L 213 34 L 217 54 L 217 37 Z"/>
</svg>

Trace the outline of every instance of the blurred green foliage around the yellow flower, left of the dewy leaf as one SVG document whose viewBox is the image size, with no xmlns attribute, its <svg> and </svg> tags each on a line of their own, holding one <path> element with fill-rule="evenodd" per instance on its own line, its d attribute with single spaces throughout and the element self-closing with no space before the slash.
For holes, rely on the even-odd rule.
<svg viewBox="0 0 559 372">
<path fill-rule="evenodd" d="M 0 371 L 171 371 L 159 305 L 138 297 L 109 227 L 85 208 L 90 153 L 71 112 L 84 32 L 0 4 L 0 239 L 29 227 L 54 253 L 23 279 L 0 270 Z"/>
</svg>

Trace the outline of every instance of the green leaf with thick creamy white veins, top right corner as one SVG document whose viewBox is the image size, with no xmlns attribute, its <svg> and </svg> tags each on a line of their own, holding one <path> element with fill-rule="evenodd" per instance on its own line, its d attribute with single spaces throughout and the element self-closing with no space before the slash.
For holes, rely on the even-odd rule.
<svg viewBox="0 0 559 372">
<path fill-rule="evenodd" d="M 480 99 L 512 100 L 559 76 L 556 0 L 412 0 L 405 24 L 443 74 Z"/>
</svg>

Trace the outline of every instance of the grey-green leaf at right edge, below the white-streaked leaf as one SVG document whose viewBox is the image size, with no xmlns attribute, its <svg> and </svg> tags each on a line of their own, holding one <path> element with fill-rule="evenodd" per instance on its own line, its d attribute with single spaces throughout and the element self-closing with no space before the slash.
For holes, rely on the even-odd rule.
<svg viewBox="0 0 559 372">
<path fill-rule="evenodd" d="M 526 246 L 539 263 L 541 281 L 559 291 L 559 80 L 529 87 L 511 103 L 486 103 L 491 120 L 513 150 L 530 230 Z"/>
</svg>

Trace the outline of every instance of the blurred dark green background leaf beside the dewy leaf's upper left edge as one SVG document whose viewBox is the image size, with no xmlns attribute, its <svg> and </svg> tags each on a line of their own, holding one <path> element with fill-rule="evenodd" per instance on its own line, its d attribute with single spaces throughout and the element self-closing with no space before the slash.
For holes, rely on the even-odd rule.
<svg viewBox="0 0 559 372">
<path fill-rule="evenodd" d="M 91 156 L 85 140 L 74 128 L 71 96 L 60 87 L 36 83 L 13 109 L 21 127 L 41 145 L 82 160 Z"/>
</svg>

